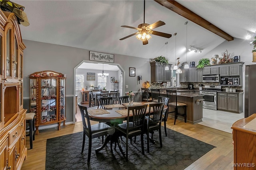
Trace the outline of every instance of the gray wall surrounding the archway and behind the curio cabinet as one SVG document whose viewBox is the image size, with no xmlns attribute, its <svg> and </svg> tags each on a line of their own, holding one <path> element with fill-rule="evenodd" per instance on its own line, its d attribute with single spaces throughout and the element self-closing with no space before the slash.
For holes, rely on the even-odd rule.
<svg viewBox="0 0 256 170">
<path fill-rule="evenodd" d="M 89 60 L 89 50 L 54 45 L 50 43 L 23 40 L 26 45 L 24 50 L 24 100 L 29 99 L 29 75 L 44 70 L 52 70 L 66 74 L 66 122 L 73 121 L 73 97 L 74 97 L 74 68 L 83 60 Z M 100 52 L 100 49 L 98 50 Z M 120 64 L 125 70 L 125 85 L 128 91 L 140 91 L 144 81 L 150 81 L 149 59 L 132 57 L 127 55 L 114 55 L 114 63 Z M 129 77 L 129 67 L 136 68 L 136 76 Z M 138 75 L 142 75 L 142 81 L 138 81 Z M 70 99 L 70 97 L 72 99 Z M 28 101 L 24 101 L 24 108 L 28 108 Z"/>
</svg>

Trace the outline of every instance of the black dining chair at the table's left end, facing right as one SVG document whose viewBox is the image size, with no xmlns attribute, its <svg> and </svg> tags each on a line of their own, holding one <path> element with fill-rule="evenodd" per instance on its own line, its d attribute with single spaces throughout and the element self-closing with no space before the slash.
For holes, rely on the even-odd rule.
<svg viewBox="0 0 256 170">
<path fill-rule="evenodd" d="M 98 123 L 95 125 L 91 125 L 89 115 L 87 112 L 87 107 L 78 103 L 78 107 L 80 109 L 82 122 L 83 122 L 83 143 L 82 143 L 82 152 L 84 152 L 84 144 L 85 137 L 89 138 L 89 146 L 88 146 L 88 159 L 87 162 L 90 162 L 91 152 L 92 152 L 92 138 L 97 138 L 100 136 L 111 135 L 114 133 L 114 128 L 110 127 L 106 123 Z M 86 118 L 86 120 L 85 120 Z M 87 123 L 86 123 L 87 122 Z"/>
</svg>

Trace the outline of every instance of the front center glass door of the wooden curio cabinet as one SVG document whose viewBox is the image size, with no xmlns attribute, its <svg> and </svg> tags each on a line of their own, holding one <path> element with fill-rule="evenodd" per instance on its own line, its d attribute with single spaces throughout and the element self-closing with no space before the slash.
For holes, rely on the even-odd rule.
<svg viewBox="0 0 256 170">
<path fill-rule="evenodd" d="M 56 104 L 56 79 L 41 79 L 41 123 L 58 120 Z"/>
</svg>

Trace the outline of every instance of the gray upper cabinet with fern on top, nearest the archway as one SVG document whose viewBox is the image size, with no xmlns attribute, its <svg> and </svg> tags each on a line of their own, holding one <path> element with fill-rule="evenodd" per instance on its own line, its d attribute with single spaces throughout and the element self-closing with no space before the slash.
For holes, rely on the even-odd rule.
<svg viewBox="0 0 256 170">
<path fill-rule="evenodd" d="M 165 67 L 169 67 L 168 70 L 165 70 Z M 150 62 L 151 68 L 151 82 L 162 82 L 162 81 L 171 81 L 171 67 L 172 64 L 160 63 L 160 62 Z"/>
</svg>

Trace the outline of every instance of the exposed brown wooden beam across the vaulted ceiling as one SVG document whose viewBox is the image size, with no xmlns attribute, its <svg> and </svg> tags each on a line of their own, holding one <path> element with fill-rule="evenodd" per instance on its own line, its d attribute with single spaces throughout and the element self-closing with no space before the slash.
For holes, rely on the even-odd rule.
<svg viewBox="0 0 256 170">
<path fill-rule="evenodd" d="M 213 32 L 214 34 L 217 34 L 218 36 L 228 41 L 234 40 L 232 36 L 224 32 L 220 28 L 214 26 L 212 23 L 208 22 L 207 20 L 195 14 L 194 12 L 190 11 L 188 8 L 182 6 L 175 0 L 154 0 L 154 1 L 158 2 L 160 5 L 165 6 L 166 8 L 172 10 L 173 12 L 176 12 L 177 14 L 183 16 L 184 18 L 187 18 L 188 20 L 200 25 L 206 30 Z"/>
</svg>

